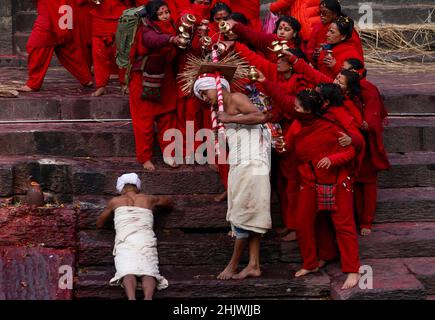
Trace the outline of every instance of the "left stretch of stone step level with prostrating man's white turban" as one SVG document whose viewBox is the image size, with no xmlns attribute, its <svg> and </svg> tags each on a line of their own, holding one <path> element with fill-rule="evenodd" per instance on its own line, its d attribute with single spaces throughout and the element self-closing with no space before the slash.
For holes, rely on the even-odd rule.
<svg viewBox="0 0 435 320">
<path fill-rule="evenodd" d="M 29 176 L 43 183 L 44 191 L 65 196 L 67 200 L 62 200 L 65 202 L 71 202 L 73 195 L 115 195 L 116 180 L 126 172 L 137 172 L 142 189 L 148 194 L 215 194 L 223 191 L 218 174 L 208 166 L 173 169 L 158 159 L 154 172 L 144 172 L 134 158 L 26 157 L 20 160 L 16 157 L 11 161 L 11 158 L 3 157 L 0 163 L 3 182 L 0 196 L 24 195 Z"/>
</svg>

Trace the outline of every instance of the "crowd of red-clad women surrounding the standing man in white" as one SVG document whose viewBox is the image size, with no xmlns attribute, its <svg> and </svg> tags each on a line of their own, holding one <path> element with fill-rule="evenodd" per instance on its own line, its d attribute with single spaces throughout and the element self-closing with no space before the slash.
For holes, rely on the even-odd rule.
<svg viewBox="0 0 435 320">
<path fill-rule="evenodd" d="M 233 257 L 218 278 L 261 275 L 260 238 L 272 227 L 270 193 L 276 190 L 285 226 L 277 232 L 283 241 L 298 241 L 303 259 L 295 276 L 317 272 L 340 256 L 342 271 L 348 274 L 343 289 L 357 284 L 357 226 L 361 235 L 370 234 L 377 175 L 390 166 L 382 142 L 387 112 L 379 90 L 366 79 L 361 40 L 338 0 L 278 0 L 267 5 L 259 0 L 36 3 L 38 18 L 27 44 L 29 79 L 22 90 L 41 88 L 53 53 L 82 85 L 95 85 L 93 96 L 103 95 L 111 75 L 117 74 L 123 92 L 128 85 L 137 160 L 147 171 L 156 170 L 155 131 L 164 150 L 170 144 L 164 139 L 168 129 L 186 134 L 187 122 L 193 122 L 195 130 L 213 126 L 210 106 L 219 102 L 215 76 L 197 75 L 190 94 L 177 81 L 191 55 L 204 55 L 205 36 L 211 45 L 221 43 L 225 52 L 234 51 L 255 66 L 255 86 L 271 100 L 268 112 L 256 109 L 245 87 L 233 87 L 224 77 L 221 81 L 224 109 L 217 117 L 227 129 L 229 158 L 235 151 L 243 158 L 243 144 L 251 144 L 251 151 L 258 149 L 258 157 L 252 158 L 251 152 L 243 168 L 231 161 L 215 168 L 227 190 L 217 200 L 228 197 L 227 220 L 236 237 Z M 57 23 L 62 4 L 74 9 L 71 30 Z M 146 5 L 146 17 L 135 34 L 131 68 L 120 69 L 115 63 L 118 19 L 127 8 L 140 5 Z M 274 21 L 274 28 L 262 24 L 260 9 Z M 179 30 L 187 15 L 196 22 L 186 46 Z M 266 134 L 257 142 L 242 136 L 240 147 L 240 136 L 234 138 L 234 131 L 229 131 L 261 129 L 266 122 L 279 123 L 284 137 L 271 162 L 258 147 L 270 143 Z M 196 143 L 184 148 L 183 156 L 191 157 L 197 148 Z M 174 168 L 180 164 L 172 156 L 163 160 Z M 252 172 L 262 166 L 270 170 L 259 179 Z M 146 208 L 151 206 L 148 202 Z M 247 243 L 249 264 L 237 272 Z M 131 281 L 125 280 L 130 289 L 135 285 Z"/>
</svg>

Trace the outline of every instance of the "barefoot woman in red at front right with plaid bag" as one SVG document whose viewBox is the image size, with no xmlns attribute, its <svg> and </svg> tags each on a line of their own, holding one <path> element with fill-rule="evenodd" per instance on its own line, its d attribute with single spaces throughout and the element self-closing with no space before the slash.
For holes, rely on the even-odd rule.
<svg viewBox="0 0 435 320">
<path fill-rule="evenodd" d="M 294 105 L 295 121 L 287 133 L 286 143 L 301 164 L 298 167 L 301 188 L 296 209 L 296 233 L 303 259 L 303 267 L 296 277 L 317 272 L 324 261 L 334 258 L 332 234 L 323 230 L 316 235 L 319 210 L 318 189 L 320 185 L 335 185 L 335 208 L 330 214 L 341 258 L 341 269 L 347 273 L 342 289 L 354 287 L 359 280 L 358 240 L 353 217 L 352 161 L 355 149 L 341 147 L 337 143 L 343 130 L 322 117 L 324 101 L 314 90 L 300 92 Z M 327 229 L 325 224 L 321 228 Z M 319 244 L 316 243 L 316 238 Z M 318 250 L 319 249 L 319 253 Z"/>
</svg>

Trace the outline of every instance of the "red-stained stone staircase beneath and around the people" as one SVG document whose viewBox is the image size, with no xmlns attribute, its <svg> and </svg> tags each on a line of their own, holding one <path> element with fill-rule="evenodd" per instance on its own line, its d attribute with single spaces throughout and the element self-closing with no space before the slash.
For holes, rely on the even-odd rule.
<svg viewBox="0 0 435 320">
<path fill-rule="evenodd" d="M 161 272 L 170 282 L 156 298 L 431 299 L 435 296 L 433 76 L 370 71 L 392 114 L 385 130 L 392 169 L 380 174 L 374 231 L 359 239 L 362 264 L 373 269 L 372 290 L 339 290 L 343 275 L 338 263 L 318 274 L 293 278 L 301 262 L 297 245 L 280 242 L 273 232 L 262 242 L 261 279 L 216 280 L 233 243 L 227 236 L 226 203 L 213 201 L 223 190 L 217 174 L 199 165 L 168 168 L 159 160 L 157 148 L 157 171 L 142 172 L 126 120 L 127 98 L 110 86 L 107 96 L 92 99 L 90 91 L 77 89 L 64 71 L 51 69 L 43 91 L 0 99 L 0 197 L 5 203 L 0 206 L 0 299 L 124 298 L 122 289 L 108 286 L 114 274 L 114 232 L 110 226 L 96 230 L 95 221 L 115 194 L 116 178 L 125 172 L 140 173 L 144 192 L 170 195 L 176 203 L 173 212 L 155 214 Z M 2 78 L 20 76 L 23 71 L 5 69 Z M 397 79 L 407 86 L 397 87 Z M 19 120 L 43 123 L 1 122 Z M 11 198 L 23 200 L 29 176 L 43 183 L 44 191 L 63 206 L 12 205 Z M 272 209 L 273 223 L 279 226 L 275 196 Z M 73 268 L 74 286 L 59 291 L 57 268 L 65 264 Z"/>
</svg>

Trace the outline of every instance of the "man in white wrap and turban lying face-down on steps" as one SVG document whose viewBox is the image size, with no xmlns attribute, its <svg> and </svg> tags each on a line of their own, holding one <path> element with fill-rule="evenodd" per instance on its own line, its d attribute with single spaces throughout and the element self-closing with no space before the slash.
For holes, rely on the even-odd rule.
<svg viewBox="0 0 435 320">
<path fill-rule="evenodd" d="M 114 217 L 116 274 L 110 284 L 123 286 L 129 300 L 136 299 L 137 287 L 142 287 L 145 300 L 152 299 L 156 288 L 168 287 L 168 281 L 159 272 L 152 210 L 155 207 L 172 208 L 173 204 L 167 197 L 139 194 L 140 186 L 135 173 L 119 177 L 116 189 L 121 195 L 109 201 L 97 220 L 97 228 L 103 228 Z"/>
</svg>

